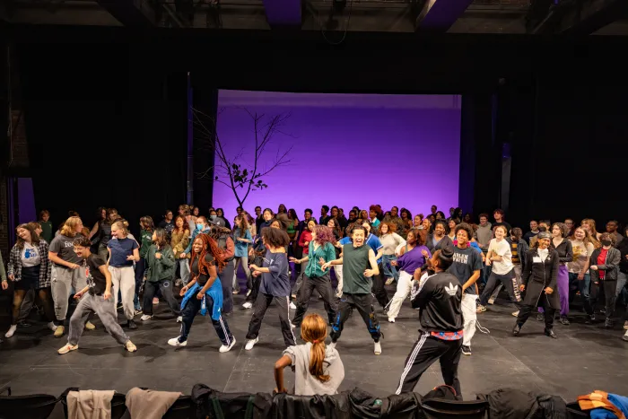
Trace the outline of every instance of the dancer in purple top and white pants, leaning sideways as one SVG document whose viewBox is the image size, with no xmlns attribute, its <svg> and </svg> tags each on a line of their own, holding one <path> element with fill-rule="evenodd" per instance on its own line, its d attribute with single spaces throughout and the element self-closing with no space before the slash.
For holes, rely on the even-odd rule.
<svg viewBox="0 0 628 419">
<path fill-rule="evenodd" d="M 382 225 L 386 225 L 382 223 Z M 432 258 L 430 249 L 423 245 L 423 238 L 417 229 L 411 229 L 406 236 L 406 246 L 401 248 L 401 256 L 391 262 L 393 266 L 399 268 L 399 282 L 397 292 L 388 307 L 388 321 L 395 323 L 395 319 L 401 310 L 401 304 L 406 300 L 408 294 L 412 292 L 414 271 L 421 270 L 425 261 Z"/>
</svg>

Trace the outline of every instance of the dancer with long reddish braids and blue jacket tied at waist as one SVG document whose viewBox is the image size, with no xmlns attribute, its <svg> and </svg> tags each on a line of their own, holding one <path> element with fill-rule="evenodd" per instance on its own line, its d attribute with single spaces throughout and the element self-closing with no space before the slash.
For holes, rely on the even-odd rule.
<svg viewBox="0 0 628 419">
<path fill-rule="evenodd" d="M 188 345 L 189 331 L 196 314 L 200 311 L 205 316 L 209 313 L 212 324 L 222 346 L 219 352 L 231 351 L 236 340 L 231 335 L 231 330 L 225 319 L 222 319 L 222 284 L 218 277 L 218 270 L 224 268 L 225 261 L 222 250 L 218 249 L 218 244 L 214 239 L 205 233 L 199 233 L 192 242 L 192 253 L 190 259 L 190 272 L 192 279 L 188 285 L 181 288 L 181 314 L 183 322 L 178 337 L 173 337 L 168 341 L 168 345 L 186 346 Z M 226 281 L 231 281 L 226 278 Z"/>
</svg>

